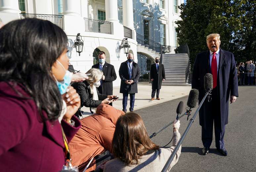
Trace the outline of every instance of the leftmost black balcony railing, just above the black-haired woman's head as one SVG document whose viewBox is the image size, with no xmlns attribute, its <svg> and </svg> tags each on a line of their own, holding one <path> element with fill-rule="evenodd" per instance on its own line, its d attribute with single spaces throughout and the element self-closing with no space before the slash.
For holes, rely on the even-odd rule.
<svg viewBox="0 0 256 172">
<path fill-rule="evenodd" d="M 21 13 L 21 18 L 38 18 L 48 20 L 63 29 L 63 15 L 48 15 L 48 14 L 26 14 Z"/>
</svg>

